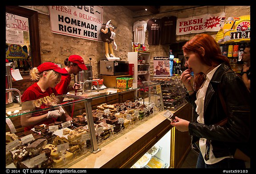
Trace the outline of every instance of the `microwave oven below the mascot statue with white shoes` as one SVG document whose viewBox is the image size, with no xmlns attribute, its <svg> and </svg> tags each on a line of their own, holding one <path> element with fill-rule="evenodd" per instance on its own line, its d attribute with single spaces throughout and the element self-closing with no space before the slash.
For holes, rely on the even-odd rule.
<svg viewBox="0 0 256 174">
<path fill-rule="evenodd" d="M 100 74 L 101 75 L 128 75 L 129 62 L 128 61 L 100 61 Z"/>
</svg>

